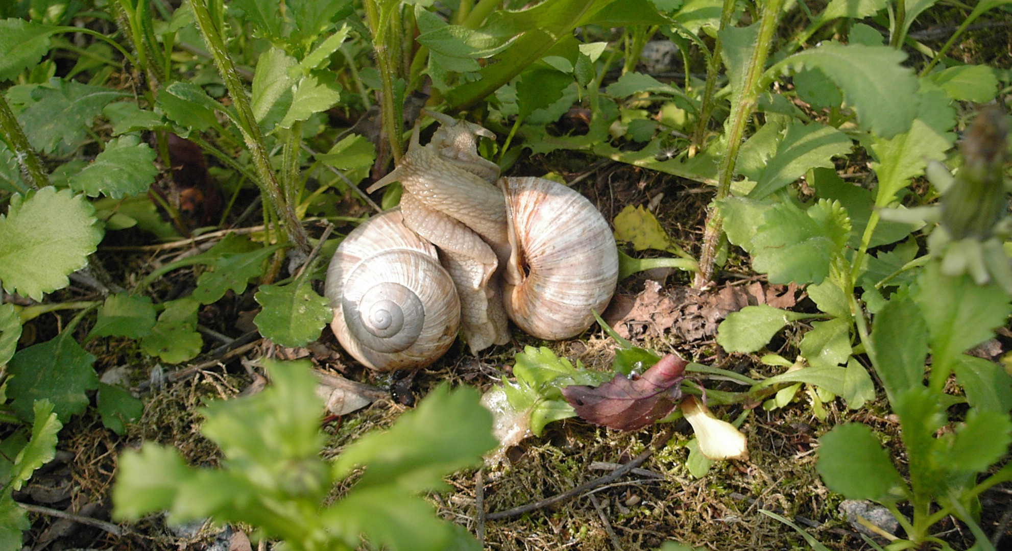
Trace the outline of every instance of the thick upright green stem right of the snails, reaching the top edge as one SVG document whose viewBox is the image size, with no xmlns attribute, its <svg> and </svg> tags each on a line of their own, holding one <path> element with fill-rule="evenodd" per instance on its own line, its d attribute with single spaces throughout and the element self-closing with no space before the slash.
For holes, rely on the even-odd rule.
<svg viewBox="0 0 1012 551">
<path fill-rule="evenodd" d="M 780 7 L 783 0 L 768 0 L 763 5 L 762 16 L 759 20 L 759 35 L 756 43 L 752 47 L 752 56 L 749 59 L 749 68 L 745 73 L 742 85 L 742 94 L 738 98 L 738 104 L 731 111 L 731 118 L 728 122 L 728 150 L 721 158 L 721 165 L 718 169 L 716 195 L 713 201 L 720 201 L 731 192 L 731 178 L 735 174 L 735 163 L 738 161 L 738 150 L 742 146 L 742 136 L 745 134 L 745 126 L 756 108 L 756 102 L 761 91 L 758 86 L 766 66 L 766 58 L 769 55 L 769 48 L 773 41 L 773 33 L 776 31 L 777 18 L 780 15 Z M 714 53 L 714 57 L 716 54 Z M 706 219 L 706 227 L 703 233 L 702 253 L 699 255 L 699 271 L 696 273 L 692 286 L 702 288 L 709 284 L 713 277 L 713 262 L 716 260 L 716 250 L 721 239 L 724 236 L 724 220 L 721 211 L 711 207 Z"/>
</svg>

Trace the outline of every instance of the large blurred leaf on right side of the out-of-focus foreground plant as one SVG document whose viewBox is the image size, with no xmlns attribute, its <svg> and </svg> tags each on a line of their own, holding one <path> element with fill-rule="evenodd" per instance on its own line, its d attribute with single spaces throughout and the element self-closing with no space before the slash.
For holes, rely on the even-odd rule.
<svg viewBox="0 0 1012 551">
<path fill-rule="evenodd" d="M 497 445 L 492 414 L 479 403 L 478 391 L 450 391 L 443 384 L 390 431 L 370 433 L 347 447 L 334 462 L 334 472 L 343 478 L 356 465 L 368 465 L 355 490 L 386 485 L 430 490 L 444 487 L 443 476 L 480 463 L 481 455 Z"/>
</svg>

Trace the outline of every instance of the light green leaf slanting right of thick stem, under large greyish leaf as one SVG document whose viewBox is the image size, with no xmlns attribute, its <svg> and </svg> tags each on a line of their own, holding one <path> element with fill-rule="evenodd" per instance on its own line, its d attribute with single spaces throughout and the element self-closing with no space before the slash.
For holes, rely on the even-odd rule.
<svg viewBox="0 0 1012 551">
<path fill-rule="evenodd" d="M 812 168 L 831 168 L 831 159 L 849 154 L 850 148 L 850 139 L 832 126 L 824 126 L 818 122 L 791 122 L 777 147 L 776 155 L 766 163 L 749 197 L 762 199 L 798 179 Z"/>
</svg>

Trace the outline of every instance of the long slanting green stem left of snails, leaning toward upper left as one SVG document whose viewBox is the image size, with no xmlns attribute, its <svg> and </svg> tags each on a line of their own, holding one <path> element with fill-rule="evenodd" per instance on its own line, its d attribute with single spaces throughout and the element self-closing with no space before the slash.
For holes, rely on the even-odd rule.
<svg viewBox="0 0 1012 551">
<path fill-rule="evenodd" d="M 236 107 L 239 130 L 243 134 L 243 141 L 246 142 L 246 147 L 253 158 L 253 165 L 256 167 L 258 176 L 256 181 L 259 183 L 261 191 L 267 194 L 278 217 L 283 220 L 288 239 L 301 251 L 309 253 L 312 249 L 309 238 L 299 221 L 294 208 L 285 200 L 284 192 L 277 181 L 277 174 L 270 166 L 270 157 L 267 155 L 267 147 L 263 143 L 260 126 L 257 125 L 256 118 L 253 116 L 250 99 L 243 86 L 242 78 L 236 71 L 236 64 L 226 50 L 221 29 L 215 25 L 207 6 L 201 0 L 189 0 L 189 4 L 196 18 L 197 30 L 200 31 L 200 35 L 207 44 L 207 50 L 215 60 L 215 66 L 218 67 L 218 72 L 222 75 L 225 86 L 229 89 L 232 103 Z"/>
</svg>

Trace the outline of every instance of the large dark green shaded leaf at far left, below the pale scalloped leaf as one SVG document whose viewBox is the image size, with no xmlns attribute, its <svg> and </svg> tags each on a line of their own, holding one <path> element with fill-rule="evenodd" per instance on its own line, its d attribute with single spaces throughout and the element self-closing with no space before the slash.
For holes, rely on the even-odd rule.
<svg viewBox="0 0 1012 551">
<path fill-rule="evenodd" d="M 61 421 L 83 412 L 88 406 L 85 392 L 98 388 L 98 375 L 91 367 L 94 363 L 95 357 L 68 332 L 19 350 L 7 364 L 7 371 L 13 375 L 7 382 L 7 392 L 14 398 L 14 414 L 30 421 L 37 399 L 52 401 Z"/>
</svg>

